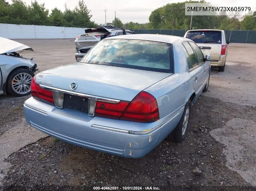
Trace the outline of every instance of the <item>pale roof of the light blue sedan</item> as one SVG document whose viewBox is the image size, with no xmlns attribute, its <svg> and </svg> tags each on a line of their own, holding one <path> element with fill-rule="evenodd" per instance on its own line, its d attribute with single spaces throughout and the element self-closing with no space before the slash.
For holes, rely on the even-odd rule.
<svg viewBox="0 0 256 191">
<path fill-rule="evenodd" d="M 176 40 L 185 39 L 184 37 L 177 37 L 163 34 L 134 34 L 134 35 L 118 35 L 114 37 L 105 38 L 108 39 L 129 39 L 129 40 L 149 40 L 163 43 L 174 43 Z M 105 40 L 104 39 L 104 40 Z"/>
</svg>

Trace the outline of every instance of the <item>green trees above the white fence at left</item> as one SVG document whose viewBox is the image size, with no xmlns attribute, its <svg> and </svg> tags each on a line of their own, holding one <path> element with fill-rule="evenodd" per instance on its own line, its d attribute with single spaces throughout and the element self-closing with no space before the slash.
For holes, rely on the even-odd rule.
<svg viewBox="0 0 256 191">
<path fill-rule="evenodd" d="M 0 0 L 0 23 L 8 24 L 34 24 L 58 27 L 97 27 L 91 21 L 90 10 L 84 0 L 79 0 L 73 10 L 62 12 L 58 8 L 49 10 L 45 4 L 39 4 L 36 0 L 27 5 L 22 0 L 12 0 L 9 4 L 6 0 Z"/>
</svg>

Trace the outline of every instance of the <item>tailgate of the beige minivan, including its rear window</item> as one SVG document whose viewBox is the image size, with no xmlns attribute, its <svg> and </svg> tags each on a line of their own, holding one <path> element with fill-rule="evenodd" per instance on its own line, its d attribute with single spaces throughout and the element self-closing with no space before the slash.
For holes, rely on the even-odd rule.
<svg viewBox="0 0 256 191">
<path fill-rule="evenodd" d="M 211 61 L 218 62 L 221 57 L 221 31 L 198 30 L 187 33 L 186 38 L 193 40 L 204 56 L 211 55 Z"/>
</svg>

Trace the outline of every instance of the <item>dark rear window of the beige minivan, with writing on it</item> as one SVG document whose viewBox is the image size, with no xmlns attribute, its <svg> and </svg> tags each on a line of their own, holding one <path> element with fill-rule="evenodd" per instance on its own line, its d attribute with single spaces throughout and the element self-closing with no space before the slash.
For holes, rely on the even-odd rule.
<svg viewBox="0 0 256 191">
<path fill-rule="evenodd" d="M 188 32 L 187 38 L 193 40 L 195 43 L 221 44 L 221 32 L 220 31 Z"/>
</svg>

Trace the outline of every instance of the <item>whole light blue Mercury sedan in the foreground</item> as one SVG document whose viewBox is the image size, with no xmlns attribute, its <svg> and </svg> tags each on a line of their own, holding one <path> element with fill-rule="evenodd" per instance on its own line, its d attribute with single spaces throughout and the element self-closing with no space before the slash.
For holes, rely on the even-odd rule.
<svg viewBox="0 0 256 191">
<path fill-rule="evenodd" d="M 37 74 L 25 118 L 62 141 L 141 158 L 165 138 L 185 139 L 191 107 L 208 90 L 209 60 L 183 37 L 106 38 L 81 62 Z"/>
</svg>

